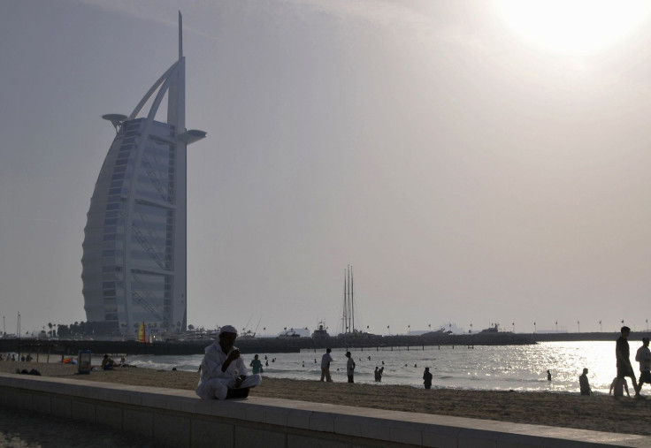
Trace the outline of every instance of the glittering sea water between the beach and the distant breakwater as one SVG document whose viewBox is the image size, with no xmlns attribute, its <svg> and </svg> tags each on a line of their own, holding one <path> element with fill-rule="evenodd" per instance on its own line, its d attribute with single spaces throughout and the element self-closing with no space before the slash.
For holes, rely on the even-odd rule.
<svg viewBox="0 0 651 448">
<path fill-rule="evenodd" d="M 631 341 L 632 364 L 638 371 Z M 641 343 L 640 343 L 641 345 Z M 433 387 L 486 391 L 578 392 L 578 376 L 588 368 L 594 392 L 609 393 L 617 373 L 615 341 L 542 342 L 536 345 L 433 345 L 352 349 L 355 382 L 375 383 L 374 370 L 384 367 L 382 384 L 423 384 L 430 368 Z M 264 376 L 316 380 L 321 375 L 323 350 L 301 353 L 258 353 Z M 347 381 L 344 349 L 333 349 L 330 372 L 335 382 Z M 247 366 L 253 354 L 242 354 Z M 266 359 L 265 359 L 266 358 Z M 142 368 L 197 372 L 203 355 L 133 355 L 126 362 Z M 268 365 L 266 365 L 268 364 Z M 548 381 L 547 371 L 552 380 Z M 637 373 L 636 373 L 637 375 Z M 198 373 L 197 373 L 198 380 Z M 630 382 L 630 380 L 629 380 Z M 631 387 L 631 384 L 629 384 Z M 632 388 L 630 389 L 632 391 Z"/>
</svg>

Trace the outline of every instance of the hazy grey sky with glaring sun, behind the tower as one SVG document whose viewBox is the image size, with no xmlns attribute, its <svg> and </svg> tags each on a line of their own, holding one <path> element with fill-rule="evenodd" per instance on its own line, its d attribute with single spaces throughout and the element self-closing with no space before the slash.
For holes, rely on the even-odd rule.
<svg viewBox="0 0 651 448">
<path fill-rule="evenodd" d="M 188 323 L 335 333 L 351 264 L 371 332 L 646 329 L 651 6 L 522 4 L 4 0 L 7 332 L 86 320 L 101 116 L 175 61 L 179 9 L 187 125 L 208 133 Z"/>
</svg>

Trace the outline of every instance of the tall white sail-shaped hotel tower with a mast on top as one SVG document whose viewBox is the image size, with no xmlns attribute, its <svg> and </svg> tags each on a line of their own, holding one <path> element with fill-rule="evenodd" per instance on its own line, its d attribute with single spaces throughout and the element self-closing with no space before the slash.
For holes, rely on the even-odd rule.
<svg viewBox="0 0 651 448">
<path fill-rule="evenodd" d="M 165 97 L 167 119 L 157 121 Z M 142 322 L 161 331 L 186 330 L 186 149 L 205 133 L 186 129 L 180 13 L 179 60 L 130 116 L 103 118 L 117 135 L 84 229 L 81 279 L 88 323 L 104 334 L 134 333 Z"/>
</svg>

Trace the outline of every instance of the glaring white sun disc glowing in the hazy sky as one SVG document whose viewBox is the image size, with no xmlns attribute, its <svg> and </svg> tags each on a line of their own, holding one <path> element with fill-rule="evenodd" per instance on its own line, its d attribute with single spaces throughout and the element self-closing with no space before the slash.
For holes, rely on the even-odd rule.
<svg viewBox="0 0 651 448">
<path fill-rule="evenodd" d="M 648 0 L 495 0 L 504 22 L 553 53 L 589 55 L 617 44 L 648 18 Z"/>
</svg>

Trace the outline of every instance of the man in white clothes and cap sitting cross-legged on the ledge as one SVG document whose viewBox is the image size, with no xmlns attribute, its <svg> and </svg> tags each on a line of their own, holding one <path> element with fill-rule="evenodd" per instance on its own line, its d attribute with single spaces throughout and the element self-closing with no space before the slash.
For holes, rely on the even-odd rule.
<svg viewBox="0 0 651 448">
<path fill-rule="evenodd" d="M 196 386 L 196 394 L 202 399 L 226 399 L 229 389 L 256 387 L 262 376 L 247 376 L 247 368 L 234 346 L 237 330 L 225 325 L 219 330 L 218 341 L 206 347 L 201 362 L 201 378 Z"/>
</svg>

